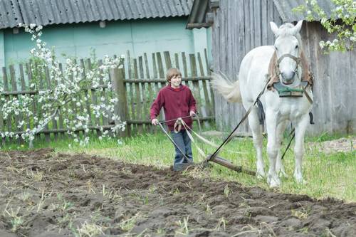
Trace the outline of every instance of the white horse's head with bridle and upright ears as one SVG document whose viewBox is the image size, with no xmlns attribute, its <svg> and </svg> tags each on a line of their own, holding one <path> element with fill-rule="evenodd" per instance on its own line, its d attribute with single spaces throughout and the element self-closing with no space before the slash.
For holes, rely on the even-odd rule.
<svg viewBox="0 0 356 237">
<path fill-rule="evenodd" d="M 301 67 L 300 54 L 302 52 L 302 44 L 300 38 L 300 28 L 302 28 L 303 21 L 298 21 L 294 26 L 291 23 L 284 23 L 278 28 L 276 23 L 270 22 L 271 29 L 276 36 L 274 47 L 276 50 L 277 63 L 276 70 L 281 83 L 291 85 L 298 84 L 300 81 Z M 295 77 L 297 75 L 297 77 Z"/>
</svg>

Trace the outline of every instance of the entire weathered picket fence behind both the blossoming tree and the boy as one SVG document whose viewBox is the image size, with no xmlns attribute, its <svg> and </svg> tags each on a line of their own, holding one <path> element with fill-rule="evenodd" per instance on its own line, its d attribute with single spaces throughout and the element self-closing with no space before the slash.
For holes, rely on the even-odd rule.
<svg viewBox="0 0 356 237">
<path fill-rule="evenodd" d="M 90 59 L 81 59 L 78 60 L 78 63 L 84 70 L 88 70 L 93 68 L 93 63 L 100 65 L 102 61 L 92 62 Z M 39 81 L 40 90 L 56 86 L 55 81 L 50 79 L 48 69 L 44 70 L 45 73 L 33 75 L 31 70 L 31 67 L 35 66 L 33 64 L 10 65 L 9 68 L 3 68 L 1 84 L 4 91 L 1 92 L 1 96 L 10 99 L 24 94 L 36 94 L 38 91 L 33 91 L 29 88 L 33 80 Z M 201 56 L 200 53 L 188 55 L 186 53 L 174 53 L 171 56 L 169 52 L 158 52 L 152 53 L 150 58 L 147 57 L 147 53 L 138 58 L 131 58 L 130 52 L 127 51 L 124 68 L 116 68 L 111 70 L 108 75 L 105 75 L 112 80 L 113 90 L 116 93 L 109 93 L 109 89 L 105 86 L 101 87 L 103 88 L 101 91 L 88 89 L 83 93 L 90 95 L 91 103 L 94 105 L 101 98 L 108 101 L 110 97 L 117 96 L 119 103 L 115 108 L 115 113 L 127 122 L 126 131 L 121 135 L 157 132 L 157 128 L 150 125 L 150 106 L 159 89 L 167 85 L 167 81 L 164 78 L 165 72 L 167 68 L 172 67 L 179 68 L 182 71 L 182 83 L 191 88 L 197 100 L 200 120 L 204 126 L 209 126 L 210 120 L 214 120 L 214 97 L 209 84 L 210 76 L 206 51 L 204 51 L 204 56 Z M 63 70 L 62 68 L 63 65 L 61 65 L 61 70 Z M 91 132 L 100 134 L 100 129 L 108 130 L 114 126 L 115 122 L 108 120 L 106 117 L 97 118 L 93 116 L 93 111 L 90 109 L 89 104 L 89 102 L 86 102 L 85 105 L 81 105 L 80 111 L 83 112 L 84 108 L 88 111 Z M 74 108 L 75 106 L 69 103 L 66 107 Z M 38 105 L 33 105 L 31 108 L 34 115 L 41 112 L 38 111 L 38 108 Z M 163 119 L 162 114 L 163 112 L 160 115 L 161 120 Z M 15 124 L 25 117 L 25 124 L 21 127 L 16 127 Z M 51 138 L 57 139 L 66 135 L 65 122 L 61 116 L 61 111 L 58 113 L 58 118 L 58 120 L 51 120 L 38 136 L 44 136 L 49 141 Z M 0 110 L 1 132 L 14 132 L 15 135 L 21 135 L 28 128 L 33 128 L 33 117 L 12 115 L 4 121 L 2 110 Z M 75 130 L 75 132 L 80 134 L 83 129 Z M 4 138 L 3 142 L 5 142 Z"/>
</svg>

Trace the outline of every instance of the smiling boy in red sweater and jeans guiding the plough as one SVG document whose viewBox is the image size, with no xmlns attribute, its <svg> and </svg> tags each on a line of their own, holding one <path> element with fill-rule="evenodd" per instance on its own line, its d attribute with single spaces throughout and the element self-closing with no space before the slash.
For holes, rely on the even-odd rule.
<svg viewBox="0 0 356 237">
<path fill-rule="evenodd" d="M 184 126 L 182 126 L 179 132 L 174 132 L 174 120 L 178 117 L 194 116 L 197 107 L 195 106 L 196 102 L 192 91 L 187 86 L 182 85 L 182 73 L 177 68 L 169 68 L 166 78 L 169 85 L 159 90 L 157 98 L 151 106 L 150 117 L 152 125 L 158 125 L 157 116 L 163 107 L 165 119 L 173 120 L 172 122 L 167 122 L 169 131 L 171 131 L 171 137 L 189 159 L 187 160 L 182 152 L 174 146 L 176 154 L 174 156 L 173 170 L 178 171 L 184 167 L 182 164 L 193 162 L 192 142 Z M 188 127 L 192 128 L 192 117 L 187 117 L 183 120 Z"/>
</svg>

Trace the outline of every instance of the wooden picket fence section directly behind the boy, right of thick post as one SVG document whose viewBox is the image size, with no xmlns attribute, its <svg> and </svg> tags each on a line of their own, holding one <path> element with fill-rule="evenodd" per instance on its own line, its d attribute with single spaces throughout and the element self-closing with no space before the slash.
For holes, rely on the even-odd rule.
<svg viewBox="0 0 356 237">
<path fill-rule="evenodd" d="M 147 54 L 138 58 L 130 58 L 127 52 L 125 65 L 125 83 L 127 95 L 127 132 L 152 132 L 150 125 L 150 106 L 160 88 L 167 85 L 165 72 L 168 68 L 179 68 L 182 71 L 182 82 L 192 89 L 192 93 L 197 100 L 199 117 L 204 125 L 209 125 L 209 120 L 214 119 L 214 100 L 209 84 L 209 63 L 206 51 L 204 58 L 200 53 L 189 54 L 187 60 L 186 53 L 174 53 L 174 57 L 169 52 L 152 53 L 152 57 L 147 58 Z M 173 60 L 172 60 L 173 58 Z M 149 65 L 152 65 L 150 68 Z M 122 99 L 123 100 L 123 99 Z M 163 112 L 160 114 L 162 120 Z"/>
</svg>

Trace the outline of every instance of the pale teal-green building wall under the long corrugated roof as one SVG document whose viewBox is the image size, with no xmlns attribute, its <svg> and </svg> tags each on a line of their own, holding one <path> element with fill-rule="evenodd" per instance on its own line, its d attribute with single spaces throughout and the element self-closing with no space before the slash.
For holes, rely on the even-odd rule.
<svg viewBox="0 0 356 237">
<path fill-rule="evenodd" d="M 186 17 L 145 19 L 132 21 L 106 21 L 105 28 L 98 22 L 72 23 L 43 28 L 43 41 L 54 46 L 56 55 L 88 58 L 90 48 L 98 58 L 104 55 L 120 56 L 130 51 L 131 56 L 143 53 L 170 51 L 172 53 L 204 52 L 209 33 L 206 29 L 185 29 Z M 0 30 L 0 65 L 18 63 L 29 57 L 34 44 L 31 35 L 23 28 L 14 34 L 13 29 Z"/>
</svg>

